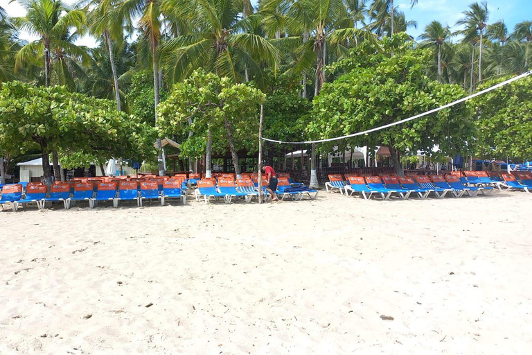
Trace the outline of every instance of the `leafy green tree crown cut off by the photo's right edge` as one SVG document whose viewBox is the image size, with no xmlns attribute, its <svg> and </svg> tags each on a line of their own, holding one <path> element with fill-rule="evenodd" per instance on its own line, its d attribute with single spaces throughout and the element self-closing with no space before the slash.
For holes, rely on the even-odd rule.
<svg viewBox="0 0 532 355">
<path fill-rule="evenodd" d="M 479 87 L 486 89 L 509 77 L 491 80 Z M 472 99 L 477 112 L 477 155 L 486 159 L 524 162 L 532 157 L 532 78 L 509 85 Z"/>
</svg>

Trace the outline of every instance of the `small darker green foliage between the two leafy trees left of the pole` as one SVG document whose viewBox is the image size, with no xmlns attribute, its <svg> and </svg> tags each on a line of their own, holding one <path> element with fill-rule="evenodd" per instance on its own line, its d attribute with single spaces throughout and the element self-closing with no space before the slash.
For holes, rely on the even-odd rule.
<svg viewBox="0 0 532 355">
<path fill-rule="evenodd" d="M 161 90 L 161 101 L 168 97 L 168 92 Z M 131 108 L 131 114 L 141 121 L 155 125 L 155 99 L 153 90 L 153 75 L 150 73 L 136 73 L 131 79 L 131 90 L 125 97 Z"/>
</svg>

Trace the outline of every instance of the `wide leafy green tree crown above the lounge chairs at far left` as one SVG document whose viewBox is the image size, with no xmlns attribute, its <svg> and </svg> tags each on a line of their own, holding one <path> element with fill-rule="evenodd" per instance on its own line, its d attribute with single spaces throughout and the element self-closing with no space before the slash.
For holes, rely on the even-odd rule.
<svg viewBox="0 0 532 355">
<path fill-rule="evenodd" d="M 112 156 L 141 161 L 155 153 L 155 137 L 155 128 L 116 111 L 114 101 L 19 82 L 4 83 L 0 92 L 0 150 L 6 153 L 59 149 L 69 166 Z"/>
</svg>

